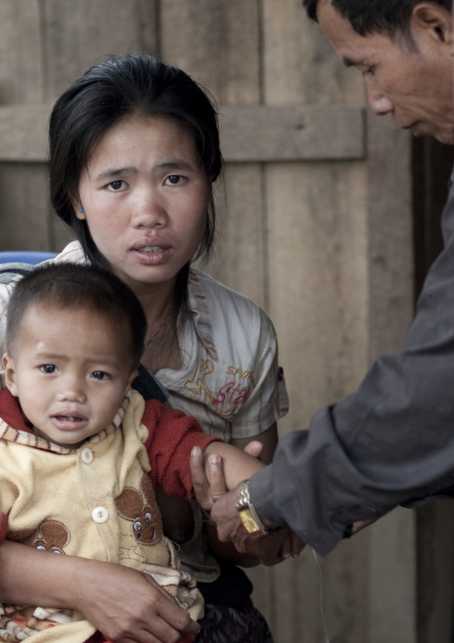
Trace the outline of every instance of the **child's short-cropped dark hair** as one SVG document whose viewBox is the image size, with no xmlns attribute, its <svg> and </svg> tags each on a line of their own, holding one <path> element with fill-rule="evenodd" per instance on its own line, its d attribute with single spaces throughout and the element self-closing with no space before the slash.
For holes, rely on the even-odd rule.
<svg viewBox="0 0 454 643">
<path fill-rule="evenodd" d="M 80 307 L 130 330 L 131 370 L 144 351 L 147 319 L 137 296 L 113 272 L 81 263 L 48 263 L 17 282 L 8 304 L 6 349 L 11 352 L 21 320 L 32 304 Z"/>
</svg>

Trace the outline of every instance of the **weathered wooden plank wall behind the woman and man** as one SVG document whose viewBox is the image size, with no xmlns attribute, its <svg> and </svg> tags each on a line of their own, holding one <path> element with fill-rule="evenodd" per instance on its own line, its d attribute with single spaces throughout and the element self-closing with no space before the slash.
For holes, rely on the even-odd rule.
<svg viewBox="0 0 454 643">
<path fill-rule="evenodd" d="M 89 65 L 134 50 L 181 66 L 219 103 L 227 166 L 209 270 L 273 318 L 290 392 L 280 432 L 307 427 L 411 321 L 408 134 L 367 115 L 359 74 L 300 0 L 2 0 L 0 250 L 62 247 L 47 201 L 48 106 Z M 392 512 L 321 565 L 332 643 L 416 643 L 413 512 Z M 276 643 L 324 641 L 308 548 L 251 578 Z M 450 640 L 444 630 L 433 643 Z"/>
</svg>

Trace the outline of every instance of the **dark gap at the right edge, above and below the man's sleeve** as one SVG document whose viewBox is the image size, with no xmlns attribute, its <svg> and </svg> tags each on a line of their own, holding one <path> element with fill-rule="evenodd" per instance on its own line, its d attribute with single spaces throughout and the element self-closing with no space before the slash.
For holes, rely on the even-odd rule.
<svg viewBox="0 0 454 643">
<path fill-rule="evenodd" d="M 427 271 L 443 247 L 440 219 L 453 163 L 453 147 L 430 138 L 414 139 L 415 301 Z M 440 632 L 443 640 L 454 641 L 450 603 L 454 501 L 431 502 L 416 510 L 416 538 L 418 641 L 440 640 Z"/>
</svg>

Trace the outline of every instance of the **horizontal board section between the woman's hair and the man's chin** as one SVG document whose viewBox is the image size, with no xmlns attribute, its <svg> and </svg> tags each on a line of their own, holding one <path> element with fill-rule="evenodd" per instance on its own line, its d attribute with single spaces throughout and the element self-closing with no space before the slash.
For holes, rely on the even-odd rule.
<svg viewBox="0 0 454 643">
<path fill-rule="evenodd" d="M 229 161 L 363 159 L 361 107 L 223 107 L 223 154 Z"/>
</svg>

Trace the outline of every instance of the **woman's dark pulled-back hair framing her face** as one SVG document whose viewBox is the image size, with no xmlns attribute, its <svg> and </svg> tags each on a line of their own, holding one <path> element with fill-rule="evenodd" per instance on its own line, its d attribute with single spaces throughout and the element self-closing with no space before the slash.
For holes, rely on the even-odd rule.
<svg viewBox="0 0 454 643">
<path fill-rule="evenodd" d="M 50 117 L 50 193 L 57 215 L 75 232 L 89 261 L 105 265 L 86 220 L 76 217 L 80 175 L 105 133 L 127 116 L 168 116 L 194 137 L 211 184 L 221 174 L 217 114 L 213 102 L 187 73 L 152 56 L 114 56 L 88 72 L 56 101 Z M 214 195 L 195 258 L 208 257 L 214 242 Z M 181 270 L 184 287 L 189 267 Z M 186 277 L 184 277 L 186 273 Z M 184 298 L 184 297 L 183 297 Z"/>
</svg>

